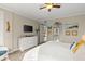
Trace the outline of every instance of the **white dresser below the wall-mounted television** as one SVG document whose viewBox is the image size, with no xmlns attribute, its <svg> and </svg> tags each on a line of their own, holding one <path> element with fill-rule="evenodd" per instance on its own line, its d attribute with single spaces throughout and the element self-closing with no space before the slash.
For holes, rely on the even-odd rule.
<svg viewBox="0 0 85 64">
<path fill-rule="evenodd" d="M 19 41 L 18 41 L 18 46 L 19 46 L 20 51 L 32 48 L 37 44 L 38 44 L 38 37 L 37 36 L 23 37 L 23 38 L 19 38 Z"/>
</svg>

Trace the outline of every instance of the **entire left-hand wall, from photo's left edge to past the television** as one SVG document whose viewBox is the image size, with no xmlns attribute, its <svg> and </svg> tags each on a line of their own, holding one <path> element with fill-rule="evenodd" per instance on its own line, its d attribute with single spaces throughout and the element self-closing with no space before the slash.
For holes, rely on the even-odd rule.
<svg viewBox="0 0 85 64">
<path fill-rule="evenodd" d="M 1 12 L 2 11 L 2 12 Z M 36 29 L 39 28 L 39 23 L 36 21 L 30 21 L 23 16 L 19 16 L 11 11 L 5 9 L 0 9 L 0 46 L 6 46 L 11 51 L 15 51 L 18 49 L 18 38 L 25 35 L 37 35 Z M 11 30 L 6 31 L 6 22 L 10 22 Z M 24 33 L 23 25 L 30 25 L 33 26 L 33 33 Z"/>
</svg>

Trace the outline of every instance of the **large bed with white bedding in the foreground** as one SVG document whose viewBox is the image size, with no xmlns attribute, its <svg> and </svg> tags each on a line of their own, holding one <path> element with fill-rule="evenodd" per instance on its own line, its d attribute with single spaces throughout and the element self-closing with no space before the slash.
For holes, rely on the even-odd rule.
<svg viewBox="0 0 85 64">
<path fill-rule="evenodd" d="M 48 41 L 26 52 L 23 61 L 84 61 L 85 46 L 76 53 L 72 53 L 70 44 L 60 41 Z"/>
</svg>

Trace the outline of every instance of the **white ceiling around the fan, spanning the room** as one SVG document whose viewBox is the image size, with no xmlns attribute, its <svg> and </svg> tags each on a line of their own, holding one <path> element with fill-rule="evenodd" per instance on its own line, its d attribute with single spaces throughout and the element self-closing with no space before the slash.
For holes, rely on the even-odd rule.
<svg viewBox="0 0 85 64">
<path fill-rule="evenodd" d="M 51 12 L 45 9 L 39 10 L 42 5 L 43 3 L 0 3 L 1 8 L 38 22 L 85 14 L 85 3 L 61 3 L 60 9 L 53 9 Z"/>
</svg>

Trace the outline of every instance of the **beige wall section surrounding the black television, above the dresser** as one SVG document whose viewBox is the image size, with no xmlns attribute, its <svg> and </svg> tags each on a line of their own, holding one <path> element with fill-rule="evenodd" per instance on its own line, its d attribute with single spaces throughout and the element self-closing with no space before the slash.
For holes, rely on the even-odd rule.
<svg viewBox="0 0 85 64">
<path fill-rule="evenodd" d="M 14 39 L 14 49 L 18 48 L 18 39 L 25 35 L 37 35 L 36 29 L 39 28 L 39 23 L 29 21 L 27 18 L 24 18 L 23 16 L 13 14 L 14 22 L 13 22 L 13 39 Z M 30 25 L 33 26 L 33 33 L 24 33 L 23 26 L 24 25 Z"/>
</svg>

